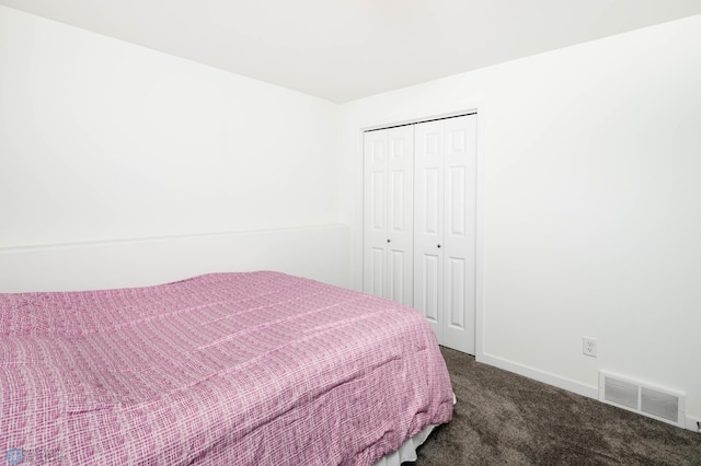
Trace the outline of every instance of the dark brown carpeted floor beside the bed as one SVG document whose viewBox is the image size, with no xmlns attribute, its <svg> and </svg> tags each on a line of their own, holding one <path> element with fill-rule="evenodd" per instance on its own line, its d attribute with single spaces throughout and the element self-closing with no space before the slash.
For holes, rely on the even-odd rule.
<svg viewBox="0 0 701 466">
<path fill-rule="evenodd" d="M 458 403 L 416 466 L 701 465 L 698 432 L 441 351 Z"/>
</svg>

